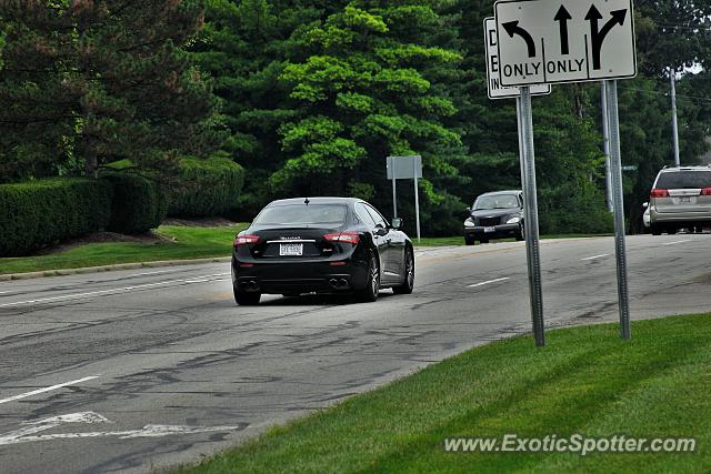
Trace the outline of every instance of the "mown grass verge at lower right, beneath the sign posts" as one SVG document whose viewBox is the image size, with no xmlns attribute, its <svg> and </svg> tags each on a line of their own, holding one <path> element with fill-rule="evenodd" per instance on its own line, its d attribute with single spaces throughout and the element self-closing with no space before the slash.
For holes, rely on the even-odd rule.
<svg viewBox="0 0 711 474">
<path fill-rule="evenodd" d="M 711 314 L 492 343 L 269 431 L 189 473 L 709 472 Z M 695 437 L 695 453 L 445 453 L 447 437 Z"/>
</svg>

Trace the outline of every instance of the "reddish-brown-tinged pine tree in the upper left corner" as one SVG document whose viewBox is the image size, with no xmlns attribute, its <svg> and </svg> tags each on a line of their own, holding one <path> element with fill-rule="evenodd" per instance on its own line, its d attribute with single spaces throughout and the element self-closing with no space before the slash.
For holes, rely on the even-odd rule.
<svg viewBox="0 0 711 474">
<path fill-rule="evenodd" d="M 182 49 L 202 14 L 198 0 L 0 2 L 6 160 L 76 157 L 96 177 L 112 160 L 161 168 L 207 153 L 216 101 Z"/>
</svg>

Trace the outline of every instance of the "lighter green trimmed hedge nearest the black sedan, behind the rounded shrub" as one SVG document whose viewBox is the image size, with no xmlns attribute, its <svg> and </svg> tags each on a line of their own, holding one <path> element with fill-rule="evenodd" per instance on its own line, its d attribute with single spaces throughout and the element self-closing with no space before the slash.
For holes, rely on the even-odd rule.
<svg viewBox="0 0 711 474">
<path fill-rule="evenodd" d="M 228 158 L 180 161 L 178 188 L 170 192 L 168 214 L 202 218 L 226 214 L 237 206 L 244 169 Z"/>
</svg>

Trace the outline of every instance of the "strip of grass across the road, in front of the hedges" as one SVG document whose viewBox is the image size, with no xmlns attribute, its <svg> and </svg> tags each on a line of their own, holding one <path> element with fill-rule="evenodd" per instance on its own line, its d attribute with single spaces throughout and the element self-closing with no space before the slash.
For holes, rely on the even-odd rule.
<svg viewBox="0 0 711 474">
<path fill-rule="evenodd" d="M 234 234 L 246 224 L 221 228 L 163 225 L 158 232 L 173 241 L 88 243 L 47 255 L 0 259 L 0 274 L 58 269 L 229 256 Z"/>
</svg>

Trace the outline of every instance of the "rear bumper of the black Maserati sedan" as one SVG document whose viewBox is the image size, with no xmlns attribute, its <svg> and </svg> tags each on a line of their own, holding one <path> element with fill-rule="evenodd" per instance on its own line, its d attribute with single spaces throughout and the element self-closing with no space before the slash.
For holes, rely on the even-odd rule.
<svg viewBox="0 0 711 474">
<path fill-rule="evenodd" d="M 232 259 L 232 284 L 243 292 L 347 293 L 363 290 L 367 263 L 346 261 L 256 262 Z"/>
</svg>

